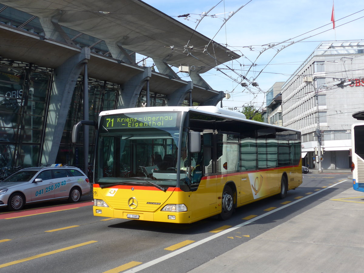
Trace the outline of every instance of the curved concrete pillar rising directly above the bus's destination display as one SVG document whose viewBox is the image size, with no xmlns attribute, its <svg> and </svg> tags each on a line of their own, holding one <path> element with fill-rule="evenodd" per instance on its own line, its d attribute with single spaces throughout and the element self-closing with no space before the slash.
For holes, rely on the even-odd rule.
<svg viewBox="0 0 364 273">
<path fill-rule="evenodd" d="M 120 88 L 116 109 L 134 108 L 146 81 L 152 76 L 152 69 L 146 67 L 141 73 L 129 79 Z"/>
</svg>

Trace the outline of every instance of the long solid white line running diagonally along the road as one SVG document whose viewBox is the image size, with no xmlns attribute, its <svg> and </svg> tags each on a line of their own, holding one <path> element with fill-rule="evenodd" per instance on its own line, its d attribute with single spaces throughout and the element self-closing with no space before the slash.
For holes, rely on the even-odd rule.
<svg viewBox="0 0 364 273">
<path fill-rule="evenodd" d="M 320 191 L 316 191 L 316 193 L 313 193 L 313 194 L 307 195 L 307 196 L 305 196 L 305 197 L 302 197 L 301 199 L 298 199 L 298 200 L 296 200 L 296 201 L 293 201 L 292 203 L 289 203 L 289 204 L 287 204 L 287 205 L 284 205 L 284 206 L 282 206 L 282 207 L 279 207 L 279 208 L 277 208 L 277 209 L 275 209 L 275 210 L 268 211 L 267 213 L 264 213 L 264 214 L 262 214 L 262 215 L 260 215 L 260 216 L 257 216 L 257 217 L 255 217 L 255 218 L 253 218 L 253 219 L 251 219 L 251 220 L 248 220 L 248 221 L 246 221 L 246 222 L 243 222 L 243 223 L 241 223 L 241 224 L 239 224 L 239 225 L 236 225 L 236 226 L 230 227 L 230 228 L 225 229 L 225 230 L 223 230 L 223 231 L 221 231 L 221 232 L 219 232 L 219 233 L 215 233 L 214 235 L 211 235 L 210 237 L 207 237 L 207 238 L 205 238 L 205 239 L 202 239 L 201 241 L 194 242 L 194 243 L 192 243 L 192 244 L 190 244 L 190 245 L 187 245 L 187 246 L 185 246 L 185 247 L 183 247 L 183 248 L 177 249 L 177 250 L 175 250 L 174 252 L 171 252 L 171 253 L 169 253 L 169 254 L 166 254 L 166 255 L 164 255 L 164 256 L 162 256 L 162 257 L 159 257 L 159 258 L 157 258 L 157 259 L 155 259 L 155 260 L 152 260 L 152 261 L 150 261 L 150 262 L 146 262 L 145 264 L 141 264 L 141 265 L 139 265 L 139 266 L 136 266 L 135 268 L 131 268 L 131 269 L 129 269 L 128 271 L 125 271 L 124 273 L 138 272 L 138 271 L 140 271 L 140 270 L 143 270 L 143 269 L 149 268 L 150 266 L 156 265 L 156 264 L 158 264 L 159 262 L 162 262 L 162 261 L 165 261 L 165 260 L 167 260 L 167 259 L 169 259 L 169 258 L 172 258 L 172 257 L 174 257 L 174 256 L 177 256 L 178 254 L 181 254 L 181 253 L 186 252 L 186 251 L 188 251 L 188 250 L 190 250 L 190 249 L 193 249 L 193 248 L 195 248 L 196 246 L 199 246 L 199 245 L 205 244 L 206 242 L 209 242 L 209 241 L 211 241 L 211 240 L 214 240 L 215 238 L 218 238 L 218 237 L 220 237 L 220 236 L 222 236 L 222 235 L 224 235 L 224 234 L 226 234 L 226 233 L 232 232 L 232 231 L 234 231 L 234 230 L 238 229 L 239 227 L 249 225 L 250 223 L 257 221 L 258 219 L 261 219 L 261 218 L 266 217 L 266 216 L 268 216 L 268 215 L 270 215 L 270 214 L 272 214 L 272 213 L 275 213 L 275 212 L 276 212 L 276 211 L 278 211 L 278 210 L 282 210 L 282 209 L 285 209 L 286 207 L 292 206 L 293 204 L 296 204 L 296 203 L 301 202 L 301 201 L 303 201 L 303 200 L 305 200 L 305 199 L 307 199 L 307 198 L 310 198 L 310 197 L 312 197 L 313 195 L 316 195 L 316 194 L 318 194 L 318 193 L 321 193 L 321 192 L 322 192 L 322 191 L 324 191 L 324 190 L 327 190 L 327 189 L 330 189 L 330 188 L 332 188 L 332 187 L 335 187 L 336 185 L 339 185 L 339 184 L 341 184 L 341 183 L 343 183 L 343 182 L 345 182 L 345 181 L 348 181 L 348 179 L 343 180 L 343 181 L 340 181 L 340 182 L 338 182 L 338 183 L 336 183 L 336 184 L 334 184 L 334 185 L 331 185 L 331 186 L 329 186 L 329 187 L 327 187 L 327 188 L 324 188 L 324 189 L 322 189 L 322 190 L 320 190 Z"/>
</svg>

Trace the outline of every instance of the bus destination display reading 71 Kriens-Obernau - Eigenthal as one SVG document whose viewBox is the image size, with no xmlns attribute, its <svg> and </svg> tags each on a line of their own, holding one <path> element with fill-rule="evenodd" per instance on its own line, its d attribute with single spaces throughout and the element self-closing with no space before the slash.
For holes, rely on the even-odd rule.
<svg viewBox="0 0 364 273">
<path fill-rule="evenodd" d="M 165 128 L 175 127 L 178 113 L 138 113 L 128 115 L 104 116 L 103 126 L 105 128 Z"/>
</svg>

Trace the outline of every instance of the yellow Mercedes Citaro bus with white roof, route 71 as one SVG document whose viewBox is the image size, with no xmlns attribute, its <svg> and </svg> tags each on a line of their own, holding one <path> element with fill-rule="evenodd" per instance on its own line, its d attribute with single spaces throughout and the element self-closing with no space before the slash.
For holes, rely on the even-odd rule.
<svg viewBox="0 0 364 273">
<path fill-rule="evenodd" d="M 215 106 L 101 112 L 96 216 L 192 223 L 302 183 L 300 131 Z"/>
</svg>

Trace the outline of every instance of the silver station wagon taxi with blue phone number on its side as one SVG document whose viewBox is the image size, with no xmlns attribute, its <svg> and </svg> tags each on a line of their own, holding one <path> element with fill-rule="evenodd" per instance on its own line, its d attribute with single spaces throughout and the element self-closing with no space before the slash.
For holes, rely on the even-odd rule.
<svg viewBox="0 0 364 273">
<path fill-rule="evenodd" d="M 87 176 L 76 167 L 27 168 L 0 182 L 0 207 L 21 210 L 25 204 L 49 200 L 78 202 L 90 190 Z"/>
</svg>

